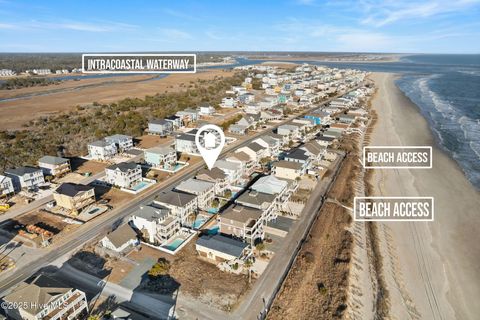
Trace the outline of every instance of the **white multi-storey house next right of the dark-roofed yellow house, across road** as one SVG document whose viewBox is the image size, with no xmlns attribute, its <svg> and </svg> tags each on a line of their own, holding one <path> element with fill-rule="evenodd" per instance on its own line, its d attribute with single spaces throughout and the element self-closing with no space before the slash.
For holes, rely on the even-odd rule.
<svg viewBox="0 0 480 320">
<path fill-rule="evenodd" d="M 142 181 L 142 167 L 133 162 L 120 162 L 105 168 L 105 182 L 132 189 Z"/>
</svg>

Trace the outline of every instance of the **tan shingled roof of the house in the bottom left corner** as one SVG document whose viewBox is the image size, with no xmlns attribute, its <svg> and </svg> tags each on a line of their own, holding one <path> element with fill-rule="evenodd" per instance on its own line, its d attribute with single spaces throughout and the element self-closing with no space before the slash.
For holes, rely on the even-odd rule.
<svg viewBox="0 0 480 320">
<path fill-rule="evenodd" d="M 22 309 L 35 315 L 43 306 L 55 301 L 72 288 L 46 275 L 37 276 L 31 283 L 22 282 L 12 293 L 3 297 L 3 300 L 19 303 Z"/>
</svg>

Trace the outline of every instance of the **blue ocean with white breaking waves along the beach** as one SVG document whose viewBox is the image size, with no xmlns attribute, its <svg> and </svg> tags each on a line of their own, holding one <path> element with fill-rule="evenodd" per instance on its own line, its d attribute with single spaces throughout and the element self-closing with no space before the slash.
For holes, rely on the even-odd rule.
<svg viewBox="0 0 480 320">
<path fill-rule="evenodd" d="M 418 106 L 438 145 L 480 189 L 480 55 L 422 54 L 398 62 L 314 64 L 400 74 L 397 87 Z"/>
</svg>

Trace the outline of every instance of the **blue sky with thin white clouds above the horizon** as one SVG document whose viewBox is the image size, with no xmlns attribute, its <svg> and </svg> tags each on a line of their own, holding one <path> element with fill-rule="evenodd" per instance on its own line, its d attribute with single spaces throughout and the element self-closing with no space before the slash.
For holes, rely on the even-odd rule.
<svg viewBox="0 0 480 320">
<path fill-rule="evenodd" d="M 0 52 L 480 53 L 480 0 L 0 0 Z"/>
</svg>

